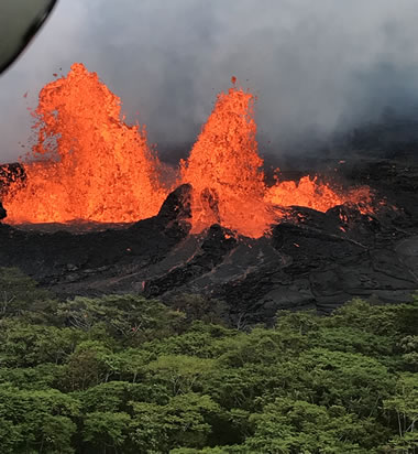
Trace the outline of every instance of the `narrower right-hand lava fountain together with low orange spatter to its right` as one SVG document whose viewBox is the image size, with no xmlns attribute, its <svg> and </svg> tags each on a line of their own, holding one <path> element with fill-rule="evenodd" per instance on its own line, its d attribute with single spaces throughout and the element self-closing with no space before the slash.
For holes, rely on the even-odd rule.
<svg viewBox="0 0 418 454">
<path fill-rule="evenodd" d="M 234 84 L 234 78 L 232 79 Z M 369 187 L 336 191 L 317 177 L 264 183 L 263 160 L 257 154 L 254 97 L 242 89 L 220 94 L 190 156 L 182 162 L 182 180 L 191 183 L 193 233 L 213 223 L 248 237 L 263 236 L 283 216 L 277 206 L 307 206 L 319 212 L 354 204 L 370 210 Z"/>
</svg>

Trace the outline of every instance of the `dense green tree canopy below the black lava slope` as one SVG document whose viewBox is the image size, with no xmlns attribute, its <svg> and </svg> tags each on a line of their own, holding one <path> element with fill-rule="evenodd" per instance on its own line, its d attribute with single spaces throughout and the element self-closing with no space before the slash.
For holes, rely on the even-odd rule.
<svg viewBox="0 0 418 454">
<path fill-rule="evenodd" d="M 58 302 L 0 269 L 0 452 L 418 452 L 416 300 L 243 332 L 200 296 Z"/>
</svg>

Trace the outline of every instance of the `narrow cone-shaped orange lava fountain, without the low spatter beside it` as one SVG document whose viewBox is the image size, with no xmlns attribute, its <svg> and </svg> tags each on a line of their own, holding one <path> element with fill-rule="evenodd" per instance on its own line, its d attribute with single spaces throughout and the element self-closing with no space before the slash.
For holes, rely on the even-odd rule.
<svg viewBox="0 0 418 454">
<path fill-rule="evenodd" d="M 260 237 L 274 221 L 263 202 L 253 102 L 253 96 L 241 89 L 220 94 L 189 159 L 182 162 L 182 180 L 194 187 L 193 231 L 219 223 Z"/>
</svg>

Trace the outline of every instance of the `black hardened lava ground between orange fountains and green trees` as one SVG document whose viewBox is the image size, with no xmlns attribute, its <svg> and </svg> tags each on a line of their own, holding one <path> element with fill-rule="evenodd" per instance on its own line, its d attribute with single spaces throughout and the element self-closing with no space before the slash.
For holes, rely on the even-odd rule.
<svg viewBox="0 0 418 454">
<path fill-rule="evenodd" d="M 237 326 L 270 323 L 282 309 L 328 313 L 353 296 L 407 301 L 418 290 L 418 223 L 414 179 L 405 174 L 417 169 L 393 164 L 398 172 L 381 182 L 376 165 L 359 172 L 361 180 L 376 175 L 377 190 L 392 188 L 374 214 L 350 205 L 327 213 L 292 207 L 258 239 L 218 224 L 189 235 L 191 186 L 182 185 L 157 216 L 123 229 L 45 233 L 0 224 L 0 266 L 21 268 L 62 298 L 138 292 L 169 302 L 200 293 L 224 301 Z M 216 215 L 217 194 L 204 197 Z"/>
</svg>

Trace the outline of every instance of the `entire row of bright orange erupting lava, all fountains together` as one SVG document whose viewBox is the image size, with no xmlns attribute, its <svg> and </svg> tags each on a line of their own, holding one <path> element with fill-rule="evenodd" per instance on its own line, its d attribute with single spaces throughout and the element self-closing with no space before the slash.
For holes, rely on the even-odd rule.
<svg viewBox="0 0 418 454">
<path fill-rule="evenodd" d="M 234 80 L 233 80 L 234 82 Z M 219 223 L 257 238 L 280 216 L 277 206 L 326 212 L 343 203 L 371 209 L 369 187 L 332 188 L 306 176 L 266 187 L 257 154 L 254 97 L 221 93 L 189 158 L 167 186 L 146 132 L 120 118 L 121 101 L 96 73 L 74 64 L 40 93 L 37 144 L 22 161 L 25 180 L 2 202 L 8 223 L 130 223 L 154 216 L 176 185 L 191 183 L 193 233 Z"/>
</svg>

